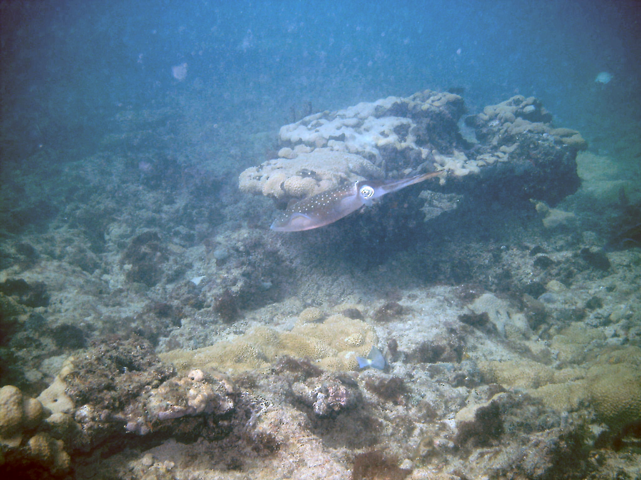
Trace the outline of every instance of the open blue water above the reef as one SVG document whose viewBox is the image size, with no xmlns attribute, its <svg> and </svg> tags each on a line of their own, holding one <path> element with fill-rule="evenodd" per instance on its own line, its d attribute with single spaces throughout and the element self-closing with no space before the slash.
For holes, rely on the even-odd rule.
<svg viewBox="0 0 641 480">
<path fill-rule="evenodd" d="M 1 12 L 12 155 L 90 142 L 114 112 L 177 96 L 270 131 L 308 102 L 319 111 L 460 87 L 475 111 L 520 93 L 597 147 L 612 127 L 604 116 L 641 111 L 634 1 L 37 1 Z M 606 85 L 594 81 L 602 71 Z"/>
</svg>

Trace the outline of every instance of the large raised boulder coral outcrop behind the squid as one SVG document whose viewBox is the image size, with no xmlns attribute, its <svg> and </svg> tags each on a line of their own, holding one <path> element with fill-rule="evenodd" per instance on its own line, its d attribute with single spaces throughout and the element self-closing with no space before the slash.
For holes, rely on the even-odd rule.
<svg viewBox="0 0 641 480">
<path fill-rule="evenodd" d="M 462 97 L 432 90 L 308 115 L 281 127 L 278 158 L 242 172 L 240 190 L 282 207 L 345 182 L 435 171 L 444 193 L 498 191 L 510 202 L 556 204 L 578 189 L 576 154 L 587 144 L 554 126 L 539 100 L 517 95 L 464 115 Z"/>
</svg>

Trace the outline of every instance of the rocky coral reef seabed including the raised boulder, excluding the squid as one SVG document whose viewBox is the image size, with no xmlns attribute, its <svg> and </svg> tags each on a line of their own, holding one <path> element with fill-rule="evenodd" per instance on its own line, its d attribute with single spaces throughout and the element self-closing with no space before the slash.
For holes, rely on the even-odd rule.
<svg viewBox="0 0 641 480">
<path fill-rule="evenodd" d="M 633 222 L 603 250 L 617 214 L 594 214 L 628 211 L 632 182 L 557 205 L 585 141 L 538 100 L 390 97 L 293 118 L 277 145 L 220 120 L 233 141 L 201 156 L 167 147 L 174 113 L 121 113 L 60 191 L 8 182 L 0 474 L 638 476 L 641 256 Z M 431 170 L 434 191 L 349 227 L 267 230 L 272 200 Z M 385 369 L 359 369 L 374 346 Z"/>
</svg>

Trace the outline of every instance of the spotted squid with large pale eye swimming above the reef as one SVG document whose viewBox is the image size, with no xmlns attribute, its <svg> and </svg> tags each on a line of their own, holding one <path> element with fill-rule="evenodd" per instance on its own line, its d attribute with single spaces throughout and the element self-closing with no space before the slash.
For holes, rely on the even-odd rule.
<svg viewBox="0 0 641 480">
<path fill-rule="evenodd" d="M 400 180 L 359 180 L 352 184 L 345 184 L 296 202 L 282 212 L 270 228 L 278 232 L 300 232 L 324 227 L 360 209 L 363 205 L 371 205 L 374 198 L 431 179 L 440 173 L 424 173 Z"/>
</svg>

